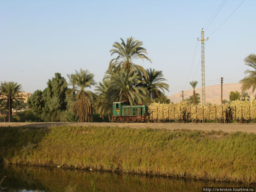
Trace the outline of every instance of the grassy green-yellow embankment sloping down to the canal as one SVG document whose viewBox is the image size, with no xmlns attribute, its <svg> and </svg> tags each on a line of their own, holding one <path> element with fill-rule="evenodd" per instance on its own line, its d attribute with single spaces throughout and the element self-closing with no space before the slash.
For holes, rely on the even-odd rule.
<svg viewBox="0 0 256 192">
<path fill-rule="evenodd" d="M 0 135 L 4 163 L 256 183 L 254 134 L 62 126 Z"/>
</svg>

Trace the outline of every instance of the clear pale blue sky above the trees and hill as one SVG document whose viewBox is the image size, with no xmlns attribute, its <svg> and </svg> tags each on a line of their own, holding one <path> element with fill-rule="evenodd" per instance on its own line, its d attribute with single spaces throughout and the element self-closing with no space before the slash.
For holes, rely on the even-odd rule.
<svg viewBox="0 0 256 192">
<path fill-rule="evenodd" d="M 17 82 L 25 92 L 33 93 L 44 90 L 54 73 L 68 81 L 67 74 L 82 68 L 100 82 L 114 58 L 109 52 L 112 44 L 133 36 L 143 42 L 152 60 L 135 63 L 163 71 L 169 96 L 192 88 L 192 80 L 201 87 L 201 41 L 197 38 L 201 39 L 204 28 L 205 39 L 209 37 L 205 41 L 206 86 L 220 84 L 221 77 L 224 83 L 238 82 L 249 69 L 243 59 L 256 54 L 255 7 L 255 0 L 2 0 L 0 80 Z"/>
</svg>

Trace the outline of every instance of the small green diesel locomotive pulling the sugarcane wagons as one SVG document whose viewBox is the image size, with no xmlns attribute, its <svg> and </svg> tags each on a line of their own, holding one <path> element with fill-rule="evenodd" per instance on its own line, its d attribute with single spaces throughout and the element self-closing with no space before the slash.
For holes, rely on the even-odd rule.
<svg viewBox="0 0 256 192">
<path fill-rule="evenodd" d="M 130 105 L 129 102 L 113 103 L 113 122 L 148 122 L 148 105 Z"/>
</svg>

